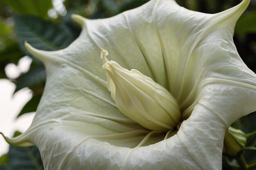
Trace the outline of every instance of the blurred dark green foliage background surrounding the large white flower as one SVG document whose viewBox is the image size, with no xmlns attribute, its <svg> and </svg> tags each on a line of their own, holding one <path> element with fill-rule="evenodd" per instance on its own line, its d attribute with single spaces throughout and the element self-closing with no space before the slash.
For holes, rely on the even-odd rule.
<svg viewBox="0 0 256 170">
<path fill-rule="evenodd" d="M 148 0 L 0 0 L 0 78 L 14 82 L 15 92 L 28 87 L 34 93 L 18 116 L 36 110 L 45 84 L 45 68 L 25 50 L 25 40 L 42 50 L 63 49 L 81 31 L 78 24 L 72 21 L 71 14 L 76 13 L 90 19 L 108 18 L 146 2 Z M 239 2 L 240 0 L 177 0 L 180 6 L 204 13 L 218 13 Z M 256 0 L 251 0 L 248 9 L 238 20 L 234 42 L 245 64 L 256 73 Z M 29 71 L 16 78 L 7 77 L 4 71 L 7 64 L 18 64 L 25 55 L 32 58 Z M 232 124 L 234 128 L 247 134 L 247 142 L 237 157 L 223 155 L 223 169 L 243 169 L 239 165 L 241 155 L 247 163 L 255 162 L 255 120 L 256 113 L 251 113 Z M 43 170 L 43 164 L 35 146 L 10 146 L 9 152 L 0 157 L 0 168 Z"/>
</svg>

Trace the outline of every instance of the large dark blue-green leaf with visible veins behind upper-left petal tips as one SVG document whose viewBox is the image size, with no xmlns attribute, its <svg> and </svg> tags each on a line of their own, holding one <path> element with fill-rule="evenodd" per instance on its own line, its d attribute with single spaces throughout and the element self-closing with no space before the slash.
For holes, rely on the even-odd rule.
<svg viewBox="0 0 256 170">
<path fill-rule="evenodd" d="M 13 15 L 13 18 L 18 42 L 27 54 L 25 41 L 38 49 L 54 51 L 67 47 L 74 40 L 64 25 L 32 16 Z"/>
</svg>

